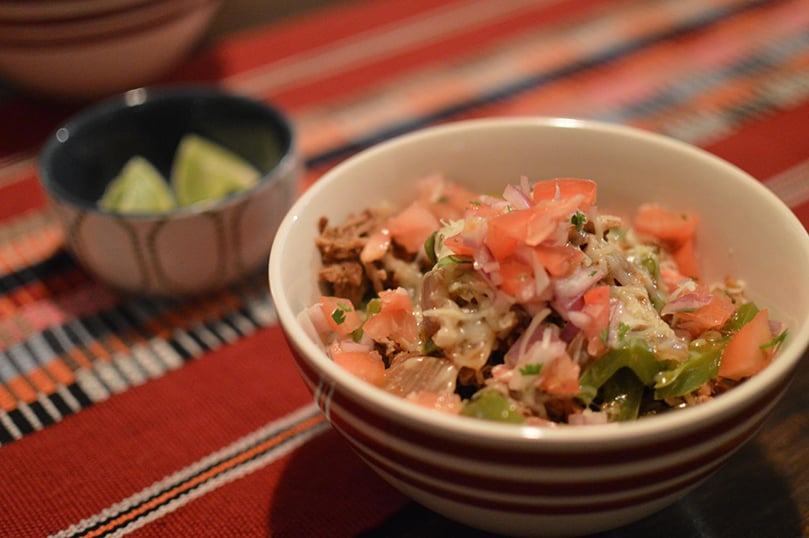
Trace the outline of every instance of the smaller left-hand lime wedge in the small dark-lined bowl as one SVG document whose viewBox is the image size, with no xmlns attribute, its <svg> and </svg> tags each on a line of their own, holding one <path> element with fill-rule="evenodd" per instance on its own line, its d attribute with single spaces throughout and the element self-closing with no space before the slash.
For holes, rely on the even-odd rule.
<svg viewBox="0 0 809 538">
<path fill-rule="evenodd" d="M 129 159 L 98 202 L 116 213 L 164 213 L 177 205 L 168 182 L 146 159 Z"/>
</svg>

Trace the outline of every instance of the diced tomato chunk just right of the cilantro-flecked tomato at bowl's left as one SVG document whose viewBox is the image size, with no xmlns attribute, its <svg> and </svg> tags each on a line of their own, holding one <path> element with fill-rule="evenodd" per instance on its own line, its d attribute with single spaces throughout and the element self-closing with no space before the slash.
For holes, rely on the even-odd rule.
<svg viewBox="0 0 809 538">
<path fill-rule="evenodd" d="M 377 342 L 393 340 L 408 347 L 418 344 L 418 325 L 407 291 L 404 288 L 381 291 L 379 301 L 379 312 L 362 326 L 365 335 Z"/>
</svg>

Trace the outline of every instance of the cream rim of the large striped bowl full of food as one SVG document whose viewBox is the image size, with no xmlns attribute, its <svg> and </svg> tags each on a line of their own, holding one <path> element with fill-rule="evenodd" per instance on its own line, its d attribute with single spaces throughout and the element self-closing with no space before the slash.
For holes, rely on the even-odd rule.
<svg viewBox="0 0 809 538">
<path fill-rule="evenodd" d="M 604 136 L 620 136 L 642 141 L 646 144 L 662 146 L 667 151 L 679 152 L 690 159 L 707 160 L 715 166 L 725 169 L 738 181 L 748 183 L 756 189 L 770 204 L 784 209 L 784 224 L 798 235 L 805 238 L 799 246 L 804 257 L 809 259 L 809 234 L 797 216 L 761 182 L 736 165 L 721 159 L 699 147 L 687 144 L 669 136 L 643 130 L 623 124 L 609 123 L 599 120 L 544 117 L 544 116 L 508 116 L 488 117 L 478 119 L 458 120 L 450 123 L 420 128 L 409 133 L 398 135 L 380 142 L 370 148 L 342 161 L 334 168 L 328 170 L 320 179 L 315 181 L 292 205 L 282 220 L 275 236 L 268 265 L 268 278 L 271 296 L 276 308 L 279 323 L 291 346 L 297 346 L 304 359 L 313 367 L 319 376 L 325 376 L 329 383 L 333 383 L 349 397 L 368 402 L 379 413 L 396 416 L 402 422 L 418 423 L 420 426 L 431 428 L 440 435 L 454 437 L 462 436 L 474 439 L 476 443 L 487 444 L 507 443 L 512 446 L 530 447 L 532 443 L 541 440 L 543 445 L 565 445 L 584 447 L 592 443 L 608 443 L 622 445 L 635 440 L 650 440 L 664 434 L 671 434 L 681 428 L 690 428 L 712 417 L 727 416 L 733 409 L 760 392 L 771 388 L 771 385 L 781 378 L 791 379 L 790 373 L 797 366 L 809 347 L 809 318 L 804 319 L 796 327 L 791 328 L 788 344 L 778 356 L 762 372 L 757 374 L 733 390 L 715 398 L 711 402 L 694 407 L 675 410 L 652 417 L 621 423 L 610 423 L 592 426 L 540 427 L 513 424 L 500 424 L 483 421 L 469 417 L 446 415 L 436 411 L 421 408 L 406 402 L 400 397 L 389 394 L 369 383 L 366 383 L 344 370 L 306 335 L 300 327 L 298 312 L 292 311 L 284 295 L 284 269 L 282 252 L 287 250 L 287 239 L 290 229 L 296 225 L 298 215 L 309 205 L 310 200 L 319 196 L 328 185 L 337 181 L 344 173 L 357 163 L 374 159 L 379 154 L 395 149 L 399 145 L 407 145 L 417 140 L 444 137 L 467 129 L 508 128 L 514 126 L 543 129 L 583 129 L 601 133 Z M 796 246 L 798 248 L 798 246 Z"/>
</svg>

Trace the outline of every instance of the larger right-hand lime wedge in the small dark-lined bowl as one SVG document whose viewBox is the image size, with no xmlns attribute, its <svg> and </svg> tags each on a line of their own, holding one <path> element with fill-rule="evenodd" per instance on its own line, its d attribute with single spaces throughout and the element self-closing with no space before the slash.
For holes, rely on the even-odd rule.
<svg viewBox="0 0 809 538">
<path fill-rule="evenodd" d="M 232 151 L 198 135 L 177 148 L 171 185 L 181 206 L 217 200 L 256 184 L 261 173 Z"/>
</svg>

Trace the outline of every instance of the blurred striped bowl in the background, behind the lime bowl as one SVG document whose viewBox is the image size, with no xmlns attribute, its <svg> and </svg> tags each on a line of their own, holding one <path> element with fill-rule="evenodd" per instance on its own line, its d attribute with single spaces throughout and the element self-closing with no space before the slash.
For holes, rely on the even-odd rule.
<svg viewBox="0 0 809 538">
<path fill-rule="evenodd" d="M 184 58 L 219 0 L 0 0 L 0 77 L 91 100 L 149 84 Z"/>
</svg>

